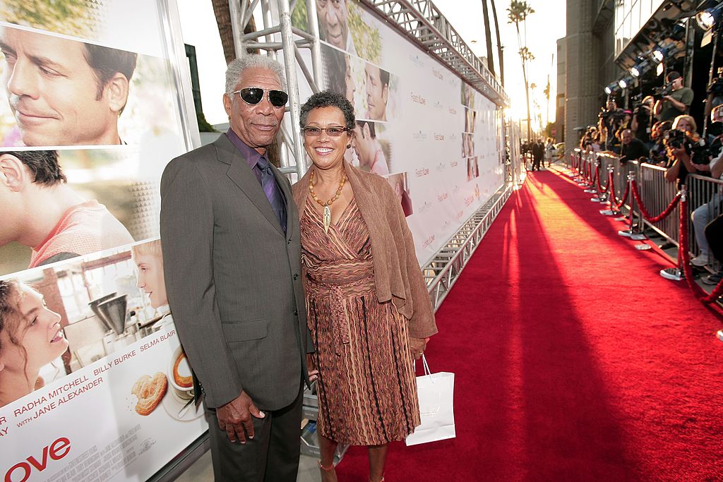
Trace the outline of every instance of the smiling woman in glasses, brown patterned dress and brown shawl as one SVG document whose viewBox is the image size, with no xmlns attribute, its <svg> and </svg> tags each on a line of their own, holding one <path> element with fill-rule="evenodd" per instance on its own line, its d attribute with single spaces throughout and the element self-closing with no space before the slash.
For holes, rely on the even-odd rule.
<svg viewBox="0 0 723 482">
<path fill-rule="evenodd" d="M 419 425 L 414 359 L 437 332 L 414 241 L 391 186 L 344 160 L 354 108 L 333 92 L 301 106 L 312 167 L 294 185 L 301 220 L 317 393 L 322 480 L 335 481 L 337 444 L 369 448 L 369 480 L 384 479 L 388 443 Z"/>
</svg>

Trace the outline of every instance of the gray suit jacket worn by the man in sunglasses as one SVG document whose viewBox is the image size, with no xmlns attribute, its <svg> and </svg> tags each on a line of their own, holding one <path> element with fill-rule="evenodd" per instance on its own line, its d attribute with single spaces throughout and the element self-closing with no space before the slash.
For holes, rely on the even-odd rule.
<svg viewBox="0 0 723 482">
<path fill-rule="evenodd" d="M 283 408 L 307 376 L 299 215 L 288 179 L 273 171 L 286 235 L 225 134 L 171 160 L 161 178 L 168 302 L 212 408 L 241 390 L 261 409 Z"/>
</svg>

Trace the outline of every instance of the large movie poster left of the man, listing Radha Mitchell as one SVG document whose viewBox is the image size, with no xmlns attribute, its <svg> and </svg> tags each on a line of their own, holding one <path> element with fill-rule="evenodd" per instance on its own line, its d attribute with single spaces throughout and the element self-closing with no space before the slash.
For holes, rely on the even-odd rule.
<svg viewBox="0 0 723 482">
<path fill-rule="evenodd" d="M 145 481 L 208 429 L 158 240 L 198 137 L 175 9 L 0 2 L 3 481 Z"/>
</svg>

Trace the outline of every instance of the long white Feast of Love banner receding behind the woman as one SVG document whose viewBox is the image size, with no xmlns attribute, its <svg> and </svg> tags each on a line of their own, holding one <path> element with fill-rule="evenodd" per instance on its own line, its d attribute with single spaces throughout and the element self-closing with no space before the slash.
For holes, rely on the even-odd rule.
<svg viewBox="0 0 723 482">
<path fill-rule="evenodd" d="M 356 113 L 346 158 L 388 178 L 426 264 L 504 183 L 502 108 L 358 1 L 319 1 L 317 14 L 322 87 Z M 294 26 L 307 30 L 306 16 L 297 2 Z"/>
</svg>

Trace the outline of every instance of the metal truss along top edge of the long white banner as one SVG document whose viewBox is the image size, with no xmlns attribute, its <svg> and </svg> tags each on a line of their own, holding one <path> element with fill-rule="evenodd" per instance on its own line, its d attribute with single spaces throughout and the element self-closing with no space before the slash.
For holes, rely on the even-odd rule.
<svg viewBox="0 0 723 482">
<path fill-rule="evenodd" d="M 474 55 L 450 22 L 430 0 L 359 0 L 392 27 L 439 59 L 463 80 L 497 106 L 510 105 L 510 98 L 497 77 Z"/>
</svg>

